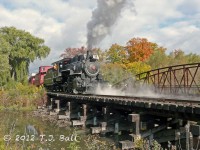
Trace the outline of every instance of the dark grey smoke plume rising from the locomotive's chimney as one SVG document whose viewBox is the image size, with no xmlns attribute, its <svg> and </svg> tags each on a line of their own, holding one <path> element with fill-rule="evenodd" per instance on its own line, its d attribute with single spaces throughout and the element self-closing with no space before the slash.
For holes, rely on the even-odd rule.
<svg viewBox="0 0 200 150">
<path fill-rule="evenodd" d="M 87 24 L 88 49 L 99 44 L 111 32 L 111 27 L 126 6 L 134 7 L 131 0 L 97 0 L 97 8 Z"/>
</svg>

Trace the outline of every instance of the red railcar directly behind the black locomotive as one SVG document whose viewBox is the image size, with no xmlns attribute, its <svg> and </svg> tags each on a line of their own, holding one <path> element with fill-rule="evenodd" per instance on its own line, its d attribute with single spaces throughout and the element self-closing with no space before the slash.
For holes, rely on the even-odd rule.
<svg viewBox="0 0 200 150">
<path fill-rule="evenodd" d="M 41 86 L 44 83 L 44 76 L 47 73 L 47 70 L 52 68 L 52 66 L 40 66 L 39 72 L 35 75 L 35 81 L 33 82 L 36 86 Z"/>
</svg>

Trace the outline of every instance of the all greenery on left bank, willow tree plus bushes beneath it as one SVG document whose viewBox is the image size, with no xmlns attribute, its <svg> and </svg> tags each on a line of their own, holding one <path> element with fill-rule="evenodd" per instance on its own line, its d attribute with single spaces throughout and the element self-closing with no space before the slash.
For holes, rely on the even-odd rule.
<svg viewBox="0 0 200 150">
<path fill-rule="evenodd" d="M 0 109 L 33 109 L 45 90 L 28 85 L 29 65 L 45 58 L 44 40 L 15 27 L 0 28 Z"/>
</svg>

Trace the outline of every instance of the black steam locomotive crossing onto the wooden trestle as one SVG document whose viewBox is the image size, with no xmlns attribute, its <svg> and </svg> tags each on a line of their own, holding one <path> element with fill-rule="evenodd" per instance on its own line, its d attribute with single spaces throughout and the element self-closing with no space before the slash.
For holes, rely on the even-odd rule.
<svg viewBox="0 0 200 150">
<path fill-rule="evenodd" d="M 99 73 L 98 55 L 76 55 L 54 62 L 44 77 L 44 86 L 48 91 L 66 93 L 87 93 L 103 82 Z"/>
</svg>

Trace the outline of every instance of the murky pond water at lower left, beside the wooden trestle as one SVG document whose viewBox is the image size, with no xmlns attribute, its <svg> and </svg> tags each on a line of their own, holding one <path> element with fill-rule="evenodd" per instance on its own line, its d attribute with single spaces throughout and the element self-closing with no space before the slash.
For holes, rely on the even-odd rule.
<svg viewBox="0 0 200 150">
<path fill-rule="evenodd" d="M 87 135 L 88 129 L 59 128 L 32 112 L 0 112 L 0 139 L 6 149 L 88 150 L 109 148 L 112 140 Z M 107 146 L 106 146 L 107 145 Z M 1 149 L 1 147 L 0 147 Z M 3 148 L 2 148 L 3 149 Z"/>
</svg>

